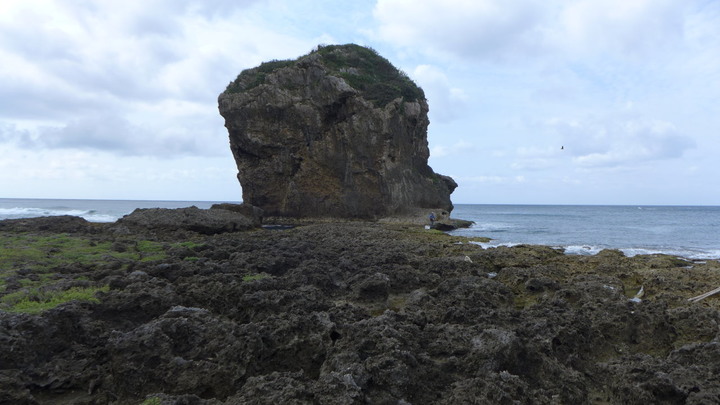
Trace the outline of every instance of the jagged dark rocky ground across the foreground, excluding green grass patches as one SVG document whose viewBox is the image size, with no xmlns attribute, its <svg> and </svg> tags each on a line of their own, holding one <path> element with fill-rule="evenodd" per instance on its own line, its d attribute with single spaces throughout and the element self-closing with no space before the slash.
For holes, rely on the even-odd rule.
<svg viewBox="0 0 720 405">
<path fill-rule="evenodd" d="M 105 288 L 37 314 L 6 304 L 1 403 L 720 402 L 720 298 L 687 300 L 720 286 L 717 261 L 483 250 L 370 223 L 112 229 L 0 227 L 106 250 L 40 276 L 40 259 L 6 264 L 3 296 L 38 277 Z"/>
</svg>

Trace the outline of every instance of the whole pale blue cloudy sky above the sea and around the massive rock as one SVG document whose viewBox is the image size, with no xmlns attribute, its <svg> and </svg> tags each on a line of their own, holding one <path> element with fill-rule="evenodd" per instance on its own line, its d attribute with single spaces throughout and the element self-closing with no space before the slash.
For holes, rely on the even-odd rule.
<svg viewBox="0 0 720 405">
<path fill-rule="evenodd" d="M 720 205 L 720 0 L 0 0 L 0 198 L 239 201 L 218 95 L 346 43 L 455 204 Z"/>
</svg>

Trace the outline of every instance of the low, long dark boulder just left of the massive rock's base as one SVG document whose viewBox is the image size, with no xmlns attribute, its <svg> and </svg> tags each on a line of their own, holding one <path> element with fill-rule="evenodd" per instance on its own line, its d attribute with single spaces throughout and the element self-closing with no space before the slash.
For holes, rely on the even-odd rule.
<svg viewBox="0 0 720 405">
<path fill-rule="evenodd" d="M 117 227 L 156 231 L 192 231 L 206 235 L 256 228 L 254 221 L 238 212 L 197 207 L 138 208 L 116 222 Z"/>
</svg>

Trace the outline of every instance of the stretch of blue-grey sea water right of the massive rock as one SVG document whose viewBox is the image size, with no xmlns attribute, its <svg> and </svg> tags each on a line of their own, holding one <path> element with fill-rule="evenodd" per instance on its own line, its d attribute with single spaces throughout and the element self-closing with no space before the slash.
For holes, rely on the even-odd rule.
<svg viewBox="0 0 720 405">
<path fill-rule="evenodd" d="M 452 216 L 475 222 L 452 234 L 492 238 L 481 244 L 486 248 L 537 244 L 580 255 L 619 249 L 720 259 L 715 206 L 457 205 Z"/>
</svg>

